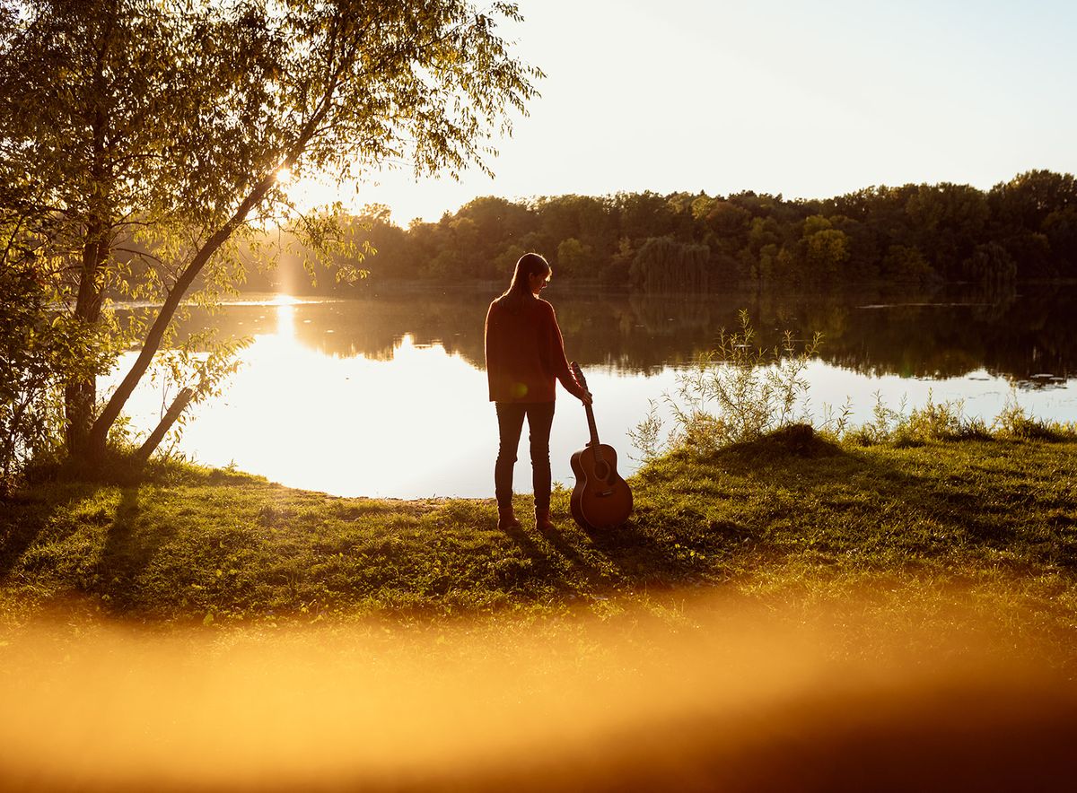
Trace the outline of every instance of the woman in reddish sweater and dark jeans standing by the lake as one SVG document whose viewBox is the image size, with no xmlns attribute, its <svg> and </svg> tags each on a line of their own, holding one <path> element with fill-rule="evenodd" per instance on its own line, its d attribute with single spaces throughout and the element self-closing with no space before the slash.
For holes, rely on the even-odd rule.
<svg viewBox="0 0 1077 793">
<path fill-rule="evenodd" d="M 531 441 L 535 525 L 538 529 L 548 529 L 551 527 L 549 430 L 554 425 L 554 381 L 560 380 L 565 391 L 585 405 L 591 401 L 591 395 L 569 369 L 554 307 L 538 297 L 551 274 L 549 264 L 542 256 L 523 254 L 516 263 L 508 289 L 490 303 L 486 314 L 486 372 L 501 436 L 498 462 L 493 467 L 500 528 L 520 525 L 513 514 L 513 466 L 524 416 Z"/>
</svg>

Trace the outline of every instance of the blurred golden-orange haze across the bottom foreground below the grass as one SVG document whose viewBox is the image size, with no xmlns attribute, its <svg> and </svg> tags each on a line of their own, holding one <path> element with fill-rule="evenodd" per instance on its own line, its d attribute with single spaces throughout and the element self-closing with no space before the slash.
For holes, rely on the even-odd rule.
<svg viewBox="0 0 1077 793">
<path fill-rule="evenodd" d="M 0 628 L 0 788 L 1072 789 L 1077 686 L 988 627 L 714 596 L 605 610 Z"/>
</svg>

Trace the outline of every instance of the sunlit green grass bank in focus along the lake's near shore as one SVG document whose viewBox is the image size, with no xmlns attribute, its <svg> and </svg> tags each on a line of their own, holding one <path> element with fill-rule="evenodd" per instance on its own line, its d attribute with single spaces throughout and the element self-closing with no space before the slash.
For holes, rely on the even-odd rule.
<svg viewBox="0 0 1077 793">
<path fill-rule="evenodd" d="M 2 504 L 0 617 L 614 614 L 705 591 L 792 620 L 827 604 L 836 622 L 934 626 L 940 641 L 987 620 L 1003 643 L 1073 655 L 1077 442 L 861 447 L 794 428 L 668 455 L 631 484 L 617 532 L 576 526 L 562 490 L 554 532 L 524 520 L 506 534 L 492 500 L 337 498 L 191 466 L 140 484 L 43 482 Z"/>
</svg>

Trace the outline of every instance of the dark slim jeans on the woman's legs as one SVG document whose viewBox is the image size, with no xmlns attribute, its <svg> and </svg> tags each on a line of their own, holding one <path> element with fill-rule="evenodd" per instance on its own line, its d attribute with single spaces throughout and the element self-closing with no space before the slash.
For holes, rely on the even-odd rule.
<svg viewBox="0 0 1077 793">
<path fill-rule="evenodd" d="M 513 466 L 520 447 L 523 416 L 528 417 L 531 442 L 531 475 L 535 509 L 549 509 L 549 430 L 554 426 L 554 402 L 494 402 L 498 409 L 498 462 L 493 466 L 493 492 L 499 507 L 513 502 Z"/>
</svg>

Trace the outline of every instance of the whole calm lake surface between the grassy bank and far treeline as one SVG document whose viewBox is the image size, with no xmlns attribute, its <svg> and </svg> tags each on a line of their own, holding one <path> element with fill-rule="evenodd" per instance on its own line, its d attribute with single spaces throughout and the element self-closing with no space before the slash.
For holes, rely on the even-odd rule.
<svg viewBox="0 0 1077 793">
<path fill-rule="evenodd" d="M 824 335 L 811 407 L 873 394 L 897 407 L 964 399 L 988 420 L 1008 397 L 1041 417 L 1077 420 L 1073 288 L 1003 295 L 544 295 L 557 308 L 570 359 L 595 394 L 603 441 L 623 473 L 637 467 L 627 433 L 648 400 L 675 390 L 680 368 L 713 345 L 746 308 L 760 341 L 788 328 Z M 201 463 L 338 495 L 411 498 L 491 495 L 496 420 L 487 401 L 482 321 L 490 294 L 416 293 L 351 300 L 246 298 L 206 324 L 253 342 L 225 395 L 196 408 L 179 450 Z M 129 403 L 136 428 L 156 422 L 152 386 Z M 579 403 L 559 391 L 554 479 L 571 487 L 569 458 L 587 440 Z M 530 492 L 527 439 L 516 490 Z"/>
</svg>

